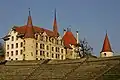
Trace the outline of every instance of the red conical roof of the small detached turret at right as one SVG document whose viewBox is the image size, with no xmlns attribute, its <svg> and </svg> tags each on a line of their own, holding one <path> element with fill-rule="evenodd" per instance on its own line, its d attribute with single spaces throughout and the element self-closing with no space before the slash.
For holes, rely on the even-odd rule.
<svg viewBox="0 0 120 80">
<path fill-rule="evenodd" d="M 112 52 L 107 33 L 104 39 L 103 48 L 101 52 Z"/>
</svg>

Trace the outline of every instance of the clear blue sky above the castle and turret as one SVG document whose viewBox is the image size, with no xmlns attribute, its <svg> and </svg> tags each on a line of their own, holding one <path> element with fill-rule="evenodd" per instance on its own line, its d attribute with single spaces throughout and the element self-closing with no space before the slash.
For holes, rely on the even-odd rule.
<svg viewBox="0 0 120 80">
<path fill-rule="evenodd" d="M 48 29 L 52 29 L 56 8 L 61 35 L 71 25 L 72 32 L 79 30 L 79 38 L 85 37 L 97 56 L 107 30 L 113 51 L 120 53 L 120 0 L 1 0 L 0 37 L 14 25 L 26 23 L 28 8 L 33 24 Z"/>
</svg>

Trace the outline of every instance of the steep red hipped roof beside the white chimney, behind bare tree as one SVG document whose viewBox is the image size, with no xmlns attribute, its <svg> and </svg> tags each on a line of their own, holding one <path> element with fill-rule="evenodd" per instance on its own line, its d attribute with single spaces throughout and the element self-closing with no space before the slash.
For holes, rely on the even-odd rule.
<svg viewBox="0 0 120 80">
<path fill-rule="evenodd" d="M 64 45 L 67 47 L 67 48 L 71 48 L 70 47 L 70 44 L 72 45 L 76 45 L 77 44 L 77 40 L 76 38 L 73 36 L 72 32 L 71 31 L 67 31 L 65 33 L 65 35 L 63 36 L 63 41 L 64 41 Z"/>
</svg>

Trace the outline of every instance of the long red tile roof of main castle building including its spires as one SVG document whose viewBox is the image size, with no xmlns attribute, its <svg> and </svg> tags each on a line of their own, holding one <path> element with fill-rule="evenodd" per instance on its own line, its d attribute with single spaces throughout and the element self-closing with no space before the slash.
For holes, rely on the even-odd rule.
<svg viewBox="0 0 120 80">
<path fill-rule="evenodd" d="M 43 32 L 46 32 L 46 34 L 48 36 L 56 37 L 56 32 L 57 32 L 57 22 L 56 22 L 56 19 L 55 19 L 55 22 L 54 22 L 54 26 L 56 27 L 55 28 L 55 32 L 47 30 L 47 29 L 44 29 L 44 28 L 40 28 L 40 27 L 34 26 L 32 24 L 32 18 L 31 18 L 30 11 L 29 11 L 27 25 L 20 26 L 20 27 L 15 27 L 15 30 L 19 34 L 24 34 L 25 38 L 34 38 L 34 34 L 35 33 L 43 33 Z"/>
</svg>

